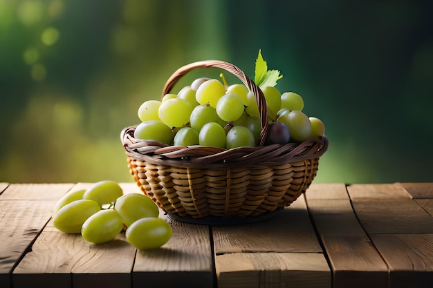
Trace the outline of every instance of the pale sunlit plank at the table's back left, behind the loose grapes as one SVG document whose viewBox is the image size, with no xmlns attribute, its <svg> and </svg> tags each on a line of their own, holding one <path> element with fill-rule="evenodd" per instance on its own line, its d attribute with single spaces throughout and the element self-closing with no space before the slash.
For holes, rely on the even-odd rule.
<svg viewBox="0 0 433 288">
<path fill-rule="evenodd" d="M 0 200 L 55 200 L 74 184 L 10 184 Z"/>
</svg>

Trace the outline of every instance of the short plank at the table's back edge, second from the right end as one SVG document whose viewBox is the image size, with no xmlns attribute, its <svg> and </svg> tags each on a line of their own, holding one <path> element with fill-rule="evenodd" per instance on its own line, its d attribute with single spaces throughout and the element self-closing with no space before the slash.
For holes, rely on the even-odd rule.
<svg viewBox="0 0 433 288">
<path fill-rule="evenodd" d="M 347 186 L 351 199 L 411 199 L 412 196 L 398 183 L 394 184 L 351 184 Z"/>
</svg>

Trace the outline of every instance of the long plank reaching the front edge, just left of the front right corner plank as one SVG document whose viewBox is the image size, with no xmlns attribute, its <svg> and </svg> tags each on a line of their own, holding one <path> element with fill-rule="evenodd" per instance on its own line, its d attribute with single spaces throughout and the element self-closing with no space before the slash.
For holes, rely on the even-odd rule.
<svg viewBox="0 0 433 288">
<path fill-rule="evenodd" d="M 387 265 L 360 226 L 350 201 L 306 198 L 331 264 L 333 287 L 387 287 Z"/>
</svg>

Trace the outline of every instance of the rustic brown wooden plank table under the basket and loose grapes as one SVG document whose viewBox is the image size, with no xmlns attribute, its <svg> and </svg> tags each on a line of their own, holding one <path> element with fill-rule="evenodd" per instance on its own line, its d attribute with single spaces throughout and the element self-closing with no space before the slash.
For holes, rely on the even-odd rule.
<svg viewBox="0 0 433 288">
<path fill-rule="evenodd" d="M 55 202 L 86 186 L 0 183 L 1 288 L 433 287 L 433 183 L 313 184 L 250 224 L 167 218 L 174 233 L 156 251 L 57 231 Z"/>
</svg>

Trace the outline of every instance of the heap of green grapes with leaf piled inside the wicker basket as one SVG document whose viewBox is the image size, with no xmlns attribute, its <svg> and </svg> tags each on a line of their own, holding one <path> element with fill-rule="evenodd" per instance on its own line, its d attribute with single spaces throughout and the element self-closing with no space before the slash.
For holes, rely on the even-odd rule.
<svg viewBox="0 0 433 288">
<path fill-rule="evenodd" d="M 324 135 L 323 122 L 302 112 L 304 100 L 300 95 L 280 93 L 274 87 L 282 75 L 267 69 L 261 52 L 255 73 L 270 123 L 265 145 L 303 142 Z M 201 77 L 177 94 L 142 103 L 138 108 L 141 123 L 133 136 L 174 146 L 258 146 L 262 124 L 256 96 L 244 84 L 228 85 L 223 74 L 221 79 Z"/>
</svg>

